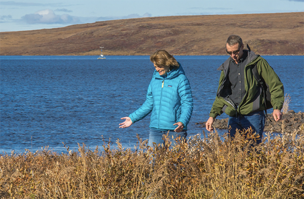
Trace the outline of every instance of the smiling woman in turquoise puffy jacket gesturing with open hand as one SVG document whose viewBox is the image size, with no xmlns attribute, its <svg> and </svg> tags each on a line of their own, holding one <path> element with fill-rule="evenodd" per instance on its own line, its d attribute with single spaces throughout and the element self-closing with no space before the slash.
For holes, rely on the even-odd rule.
<svg viewBox="0 0 304 199">
<path fill-rule="evenodd" d="M 119 125 L 120 128 L 129 127 L 152 112 L 148 145 L 164 143 L 163 135 L 168 131 L 173 144 L 176 137 L 187 136 L 187 124 L 193 111 L 191 87 L 180 63 L 167 51 L 156 51 L 150 56 L 150 61 L 156 70 L 146 101 L 129 117 L 121 118 L 125 121 Z"/>
</svg>

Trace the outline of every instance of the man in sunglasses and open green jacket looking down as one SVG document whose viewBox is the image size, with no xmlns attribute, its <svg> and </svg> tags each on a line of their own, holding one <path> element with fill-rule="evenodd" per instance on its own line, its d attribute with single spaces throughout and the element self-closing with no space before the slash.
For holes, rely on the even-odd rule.
<svg viewBox="0 0 304 199">
<path fill-rule="evenodd" d="M 247 45 L 249 48 L 249 46 Z M 259 76 L 269 85 L 275 121 L 282 118 L 284 88 L 280 78 L 266 60 L 244 49 L 240 36 L 231 35 L 226 41 L 226 52 L 230 55 L 217 70 L 221 70 L 216 98 L 211 108 L 206 129 L 212 131 L 215 118 L 222 113 L 229 115 L 230 136 L 236 130 L 252 128 L 260 138 L 265 125 L 265 105 L 261 88 L 252 68 L 256 65 Z M 257 140 L 260 143 L 261 139 Z"/>
</svg>

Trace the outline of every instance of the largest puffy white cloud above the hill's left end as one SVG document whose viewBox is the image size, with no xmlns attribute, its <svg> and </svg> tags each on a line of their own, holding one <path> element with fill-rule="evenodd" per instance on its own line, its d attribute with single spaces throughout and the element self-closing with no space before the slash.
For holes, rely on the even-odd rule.
<svg viewBox="0 0 304 199">
<path fill-rule="evenodd" d="M 67 14 L 56 15 L 53 10 L 46 9 L 35 14 L 27 14 L 22 17 L 27 24 L 75 24 L 79 22 L 77 17 Z"/>
</svg>

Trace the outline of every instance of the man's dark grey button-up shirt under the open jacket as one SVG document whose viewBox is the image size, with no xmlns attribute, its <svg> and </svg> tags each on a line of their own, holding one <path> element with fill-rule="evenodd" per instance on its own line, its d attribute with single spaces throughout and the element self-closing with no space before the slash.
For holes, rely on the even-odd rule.
<svg viewBox="0 0 304 199">
<path fill-rule="evenodd" d="M 245 90 L 245 82 L 244 82 L 244 68 L 246 65 L 246 59 L 248 57 L 248 53 L 243 51 L 244 54 L 238 64 L 233 60 L 230 64 L 229 71 L 229 80 L 231 83 L 231 91 L 230 95 L 231 100 L 234 102 L 236 106 L 239 106 L 243 97 L 246 94 Z"/>
</svg>

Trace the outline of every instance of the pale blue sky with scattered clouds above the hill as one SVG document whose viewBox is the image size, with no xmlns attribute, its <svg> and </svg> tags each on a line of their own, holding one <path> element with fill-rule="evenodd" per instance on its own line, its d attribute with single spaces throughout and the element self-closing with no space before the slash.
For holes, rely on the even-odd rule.
<svg viewBox="0 0 304 199">
<path fill-rule="evenodd" d="M 0 32 L 117 19 L 304 12 L 304 0 L 0 0 Z"/>
</svg>

